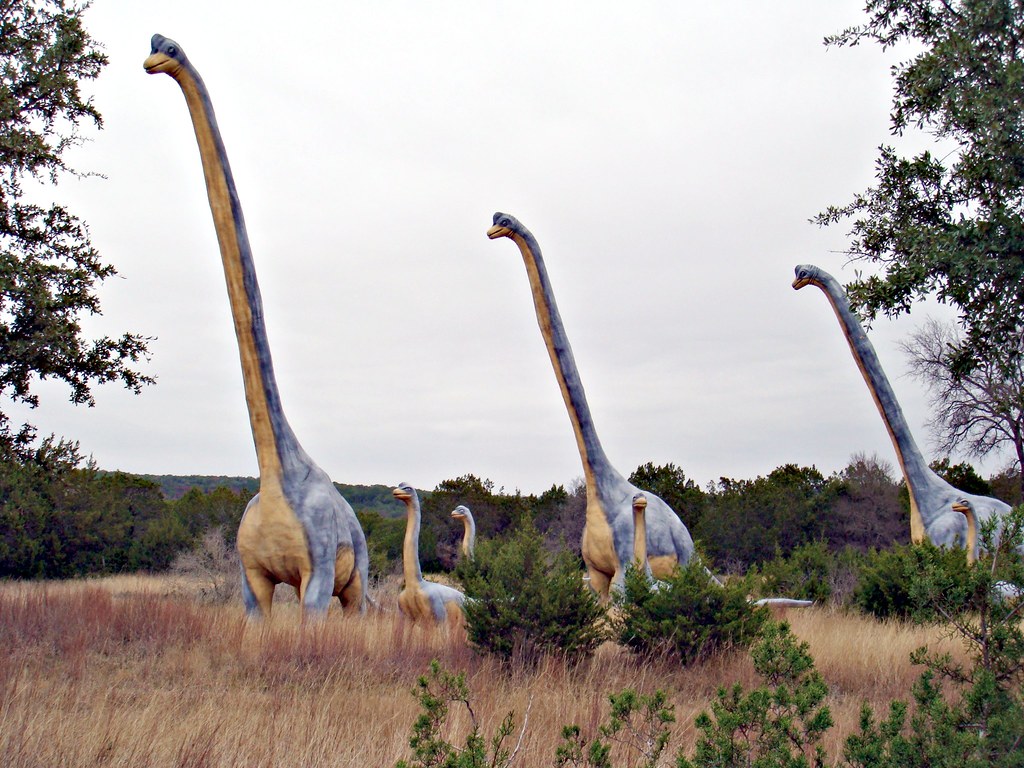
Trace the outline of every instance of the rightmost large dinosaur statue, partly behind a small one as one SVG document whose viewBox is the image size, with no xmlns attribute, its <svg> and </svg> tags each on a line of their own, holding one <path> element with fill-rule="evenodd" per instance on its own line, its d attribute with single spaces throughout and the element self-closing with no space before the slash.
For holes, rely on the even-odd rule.
<svg viewBox="0 0 1024 768">
<path fill-rule="evenodd" d="M 797 290 L 804 286 L 817 286 L 831 303 L 836 316 L 839 317 L 843 335 L 850 345 L 853 358 L 860 369 L 867 384 L 874 404 L 882 414 L 882 420 L 889 430 L 896 458 L 906 480 L 910 494 L 910 540 L 920 544 L 926 538 L 936 546 L 966 546 L 967 521 L 964 515 L 954 512 L 952 505 L 961 499 L 968 499 L 974 506 L 975 514 L 981 519 L 991 515 L 1001 515 L 1010 511 L 1010 507 L 998 499 L 987 496 L 972 496 L 965 494 L 939 477 L 924 455 L 918 450 L 918 444 L 910 434 L 903 411 L 896 400 L 889 379 L 874 352 L 874 347 L 864 333 L 860 321 L 850 308 L 846 292 L 839 281 L 828 272 L 812 264 L 801 264 L 796 268 L 797 278 L 793 287 Z M 977 543 L 974 548 L 976 550 Z M 977 556 L 977 551 L 974 555 Z"/>
</svg>

